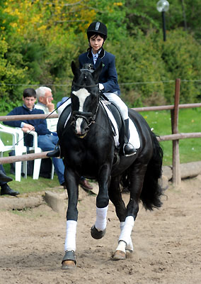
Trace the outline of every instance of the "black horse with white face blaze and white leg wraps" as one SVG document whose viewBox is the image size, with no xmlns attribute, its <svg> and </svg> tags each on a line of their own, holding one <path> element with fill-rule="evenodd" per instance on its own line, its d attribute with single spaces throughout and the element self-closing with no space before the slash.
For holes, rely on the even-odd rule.
<svg viewBox="0 0 201 284">
<path fill-rule="evenodd" d="M 98 181 L 96 223 L 91 228 L 94 239 L 101 239 L 105 234 L 109 199 L 115 205 L 121 233 L 114 260 L 126 258 L 127 251 L 133 250 L 131 233 L 139 211 L 139 201 L 149 210 L 161 207 L 162 191 L 158 180 L 161 177 L 163 151 L 147 122 L 131 109 L 129 116 L 139 133 L 140 147 L 136 155 L 119 155 L 114 163 L 117 153 L 114 129 L 100 102 L 98 89 L 101 68 L 100 65 L 95 71 L 79 70 L 72 62 L 74 80 L 71 87 L 71 106 L 64 109 L 57 126 L 69 197 L 63 269 L 76 266 L 77 202 L 81 176 Z M 69 113 L 71 114 L 67 120 Z M 119 127 L 122 128 L 121 125 Z M 120 184 L 130 190 L 127 207 L 122 200 Z"/>
</svg>

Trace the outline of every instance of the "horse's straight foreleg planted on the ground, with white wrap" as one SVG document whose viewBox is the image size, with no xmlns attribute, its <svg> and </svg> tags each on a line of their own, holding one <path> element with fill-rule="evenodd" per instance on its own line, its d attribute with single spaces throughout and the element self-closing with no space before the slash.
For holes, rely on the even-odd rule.
<svg viewBox="0 0 201 284">
<path fill-rule="evenodd" d="M 76 251 L 76 225 L 78 219 L 78 177 L 66 170 L 64 172 L 65 181 L 68 192 L 68 209 L 67 209 L 67 234 L 65 239 L 65 255 L 62 260 L 62 269 L 74 268 L 76 265 L 75 251 Z"/>
</svg>

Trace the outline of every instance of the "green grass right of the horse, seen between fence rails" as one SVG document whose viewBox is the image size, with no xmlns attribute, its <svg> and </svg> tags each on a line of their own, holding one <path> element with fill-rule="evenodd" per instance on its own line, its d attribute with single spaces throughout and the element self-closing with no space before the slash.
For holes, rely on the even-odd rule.
<svg viewBox="0 0 201 284">
<path fill-rule="evenodd" d="M 154 133 L 159 136 L 171 134 L 170 111 L 147 111 L 142 112 Z M 178 131 L 180 133 L 201 132 L 200 127 L 201 109 L 180 109 L 178 116 Z M 163 148 L 163 165 L 172 164 L 172 141 L 161 142 Z M 201 160 L 201 139 L 180 139 L 180 163 L 189 163 Z"/>
</svg>

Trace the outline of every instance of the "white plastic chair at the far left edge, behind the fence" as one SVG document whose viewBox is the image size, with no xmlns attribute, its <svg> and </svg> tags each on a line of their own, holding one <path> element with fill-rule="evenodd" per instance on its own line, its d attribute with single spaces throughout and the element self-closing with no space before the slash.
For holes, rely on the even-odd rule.
<svg viewBox="0 0 201 284">
<path fill-rule="evenodd" d="M 14 150 L 16 155 L 23 155 L 27 153 L 27 149 L 23 143 L 23 131 L 21 129 L 13 129 L 8 126 L 0 124 L 0 133 L 8 133 L 12 136 L 12 145 L 5 145 L 0 139 L 0 153 L 3 157 L 4 152 Z M 21 181 L 21 165 L 22 162 L 16 162 L 16 180 Z M 27 178 L 27 161 L 23 161 L 23 172 L 25 173 L 25 178 Z"/>
</svg>

